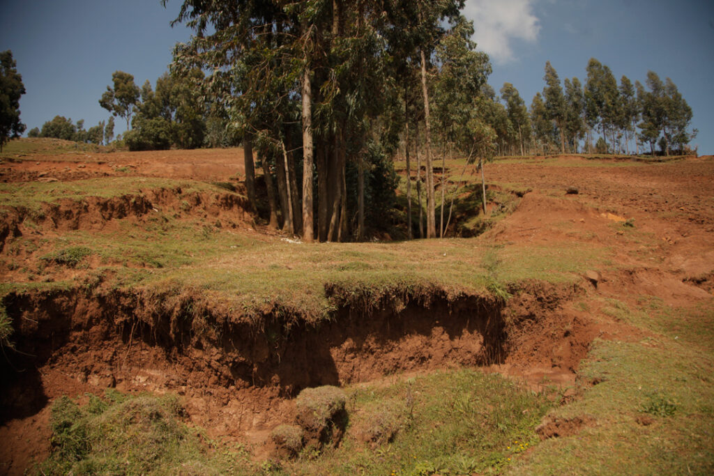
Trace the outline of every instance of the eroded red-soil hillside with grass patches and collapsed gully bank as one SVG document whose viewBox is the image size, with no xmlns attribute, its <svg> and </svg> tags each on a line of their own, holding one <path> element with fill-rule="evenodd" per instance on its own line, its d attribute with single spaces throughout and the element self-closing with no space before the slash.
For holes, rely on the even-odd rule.
<svg viewBox="0 0 714 476">
<path fill-rule="evenodd" d="M 246 211 L 239 150 L 11 158 L 0 165 L 10 473 L 50 454 L 52 402 L 106 388 L 181 395 L 179 420 L 209 447 L 242 445 L 233 461 L 248 474 L 714 465 L 711 157 L 496 161 L 488 183 L 531 192 L 482 236 L 331 245 L 285 240 Z M 545 400 L 516 399 L 522 415 L 535 405 L 533 419 L 501 428 L 469 386 L 511 390 L 458 368 L 500 373 Z M 435 371 L 452 410 L 428 420 Z M 271 432 L 318 385 L 349 396 L 340 447 L 266 469 Z M 658 399 L 674 414 L 643 411 Z M 375 406 L 408 402 L 409 425 L 365 437 Z M 469 442 L 480 432 L 439 433 L 459 419 L 496 438 L 486 453 Z M 453 438 L 461 460 L 417 437 L 431 430 Z M 528 447 L 512 449 L 519 438 Z M 657 445 L 677 456 L 651 457 Z"/>
</svg>

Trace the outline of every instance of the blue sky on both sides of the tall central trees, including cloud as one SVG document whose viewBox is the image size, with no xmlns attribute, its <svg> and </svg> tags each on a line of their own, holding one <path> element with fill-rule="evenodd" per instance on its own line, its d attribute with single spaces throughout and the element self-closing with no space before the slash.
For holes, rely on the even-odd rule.
<svg viewBox="0 0 714 476">
<path fill-rule="evenodd" d="M 181 0 L 0 0 L 0 51 L 11 49 L 27 93 L 28 130 L 56 115 L 109 118 L 99 98 L 116 70 L 152 83 L 171 48 L 190 32 L 173 29 Z M 714 1 L 467 0 L 479 46 L 491 55 L 489 82 L 513 83 L 530 105 L 550 61 L 560 79 L 585 78 L 594 57 L 619 79 L 644 81 L 648 70 L 670 77 L 693 109 L 693 141 L 714 153 Z M 123 131 L 121 120 L 116 132 Z"/>
</svg>

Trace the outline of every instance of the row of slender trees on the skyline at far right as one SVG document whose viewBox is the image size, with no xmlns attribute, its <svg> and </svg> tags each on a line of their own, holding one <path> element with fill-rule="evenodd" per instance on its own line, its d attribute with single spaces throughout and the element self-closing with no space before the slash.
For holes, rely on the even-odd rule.
<svg viewBox="0 0 714 476">
<path fill-rule="evenodd" d="M 647 88 L 640 81 L 633 85 L 627 76 L 622 76 L 618 85 L 610 68 L 596 59 L 590 59 L 585 71 L 584 84 L 578 78 L 565 79 L 563 87 L 558 73 L 546 63 L 545 88 L 533 98 L 530 121 L 522 115 L 523 101 L 504 94 L 509 116 L 513 102 L 513 111 L 524 118 L 523 127 L 531 128 L 531 146 L 536 153 L 577 152 L 583 141 L 588 153 L 640 153 L 648 146 L 654 154 L 659 146 L 662 153 L 670 155 L 683 152 L 696 136 L 696 129 L 689 129 L 692 109 L 671 79 L 663 82 L 649 71 Z M 593 150 L 594 133 L 600 137 Z M 515 138 L 511 137 L 509 145 L 513 146 Z M 522 138 L 518 142 L 523 153 Z M 634 148 L 630 148 L 631 142 Z"/>
</svg>

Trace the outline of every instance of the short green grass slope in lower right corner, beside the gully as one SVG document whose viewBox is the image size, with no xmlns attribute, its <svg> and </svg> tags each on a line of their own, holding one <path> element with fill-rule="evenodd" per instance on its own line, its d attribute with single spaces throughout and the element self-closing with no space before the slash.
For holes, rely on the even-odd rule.
<svg viewBox="0 0 714 476">
<path fill-rule="evenodd" d="M 714 471 L 714 309 L 676 309 L 643 297 L 617 315 L 653 334 L 595 342 L 578 373 L 583 397 L 553 411 L 593 427 L 543 442 L 516 475 L 711 474 Z M 598 381 L 589 387 L 588 383 Z"/>
</svg>

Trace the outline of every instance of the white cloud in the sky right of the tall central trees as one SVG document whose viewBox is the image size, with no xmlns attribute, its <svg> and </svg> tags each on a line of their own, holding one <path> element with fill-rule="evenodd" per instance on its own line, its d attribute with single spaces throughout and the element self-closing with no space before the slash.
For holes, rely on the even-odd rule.
<svg viewBox="0 0 714 476">
<path fill-rule="evenodd" d="M 514 59 L 513 40 L 538 39 L 533 0 L 466 0 L 463 15 L 473 20 L 473 41 L 497 63 Z"/>
</svg>

